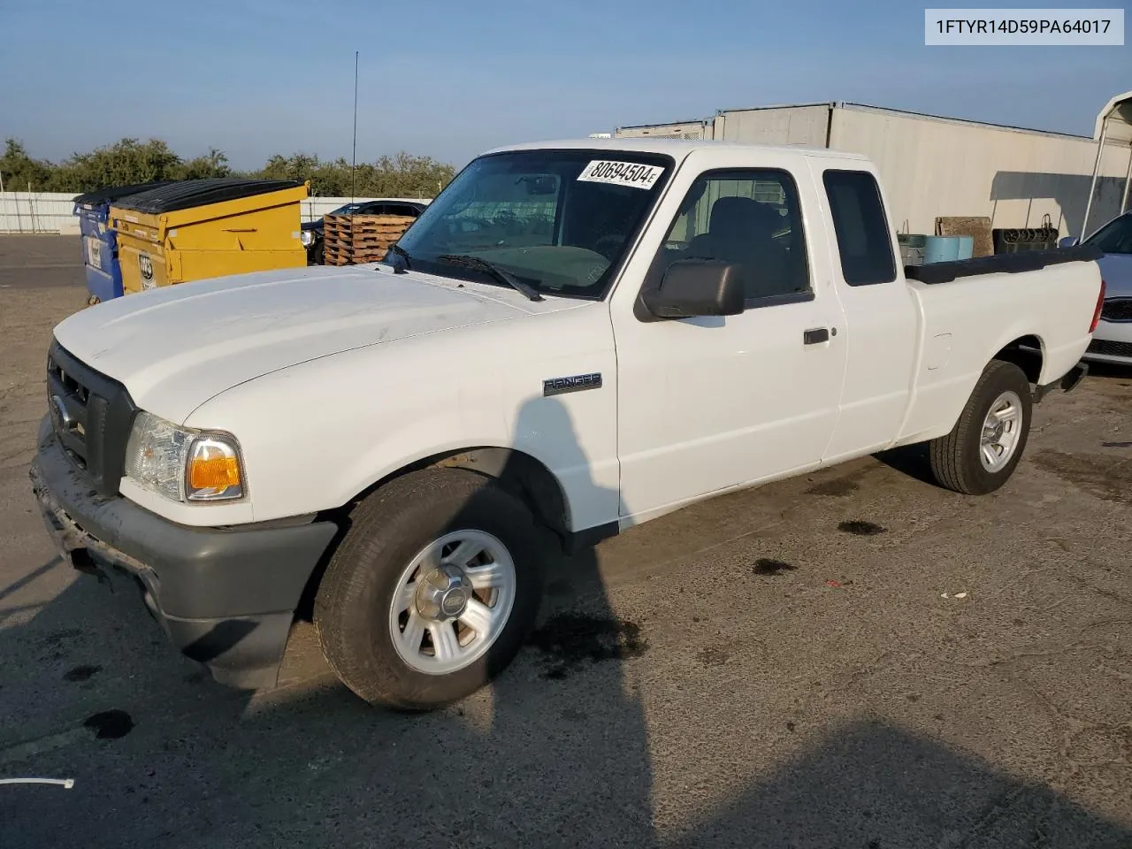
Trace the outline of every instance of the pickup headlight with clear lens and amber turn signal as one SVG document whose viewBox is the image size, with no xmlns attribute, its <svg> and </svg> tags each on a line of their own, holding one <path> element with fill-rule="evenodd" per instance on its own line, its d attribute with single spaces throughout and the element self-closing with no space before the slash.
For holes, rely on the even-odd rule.
<svg viewBox="0 0 1132 849">
<path fill-rule="evenodd" d="M 221 501 L 243 496 L 240 446 L 225 434 L 181 428 L 139 412 L 126 446 L 126 474 L 174 501 Z"/>
</svg>

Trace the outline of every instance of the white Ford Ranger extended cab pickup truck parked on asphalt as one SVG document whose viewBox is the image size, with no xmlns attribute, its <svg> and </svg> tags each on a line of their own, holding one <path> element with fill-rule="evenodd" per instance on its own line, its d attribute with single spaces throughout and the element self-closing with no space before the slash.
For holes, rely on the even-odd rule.
<svg viewBox="0 0 1132 849">
<path fill-rule="evenodd" d="M 312 599 L 350 688 L 434 707 L 514 658 L 554 535 L 914 443 L 942 486 L 1001 487 L 1083 374 L 1094 255 L 898 256 L 861 156 L 492 151 L 386 261 L 59 324 L 33 488 L 63 556 L 135 576 L 217 680 L 271 686 Z"/>
</svg>

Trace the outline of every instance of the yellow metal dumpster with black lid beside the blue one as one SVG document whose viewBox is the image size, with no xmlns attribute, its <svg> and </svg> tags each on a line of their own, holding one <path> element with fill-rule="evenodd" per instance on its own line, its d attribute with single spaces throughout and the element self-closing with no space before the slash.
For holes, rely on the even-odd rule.
<svg viewBox="0 0 1132 849">
<path fill-rule="evenodd" d="M 300 203 L 307 183 L 181 180 L 110 207 L 122 292 L 307 265 Z"/>
</svg>

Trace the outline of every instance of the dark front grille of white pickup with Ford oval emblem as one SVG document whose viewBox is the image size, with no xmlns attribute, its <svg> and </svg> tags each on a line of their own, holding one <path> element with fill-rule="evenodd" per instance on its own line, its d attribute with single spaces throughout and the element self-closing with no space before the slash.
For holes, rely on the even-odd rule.
<svg viewBox="0 0 1132 849">
<path fill-rule="evenodd" d="M 48 409 L 60 444 L 102 495 L 117 495 L 137 408 L 126 387 L 58 342 L 48 353 Z"/>
</svg>

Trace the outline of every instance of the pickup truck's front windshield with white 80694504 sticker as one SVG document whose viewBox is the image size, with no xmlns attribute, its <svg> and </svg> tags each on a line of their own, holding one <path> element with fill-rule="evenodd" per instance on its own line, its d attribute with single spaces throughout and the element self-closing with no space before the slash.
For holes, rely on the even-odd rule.
<svg viewBox="0 0 1132 849">
<path fill-rule="evenodd" d="M 543 294 L 601 298 L 672 170 L 621 151 L 518 151 L 464 169 L 398 240 L 414 271 L 497 283 L 477 257 Z"/>
</svg>

